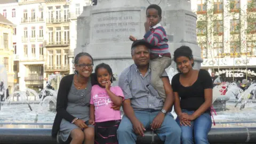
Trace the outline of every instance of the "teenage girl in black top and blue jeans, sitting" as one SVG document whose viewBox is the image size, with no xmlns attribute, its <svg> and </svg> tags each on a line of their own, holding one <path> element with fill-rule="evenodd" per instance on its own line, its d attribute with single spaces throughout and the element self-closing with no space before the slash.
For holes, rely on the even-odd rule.
<svg viewBox="0 0 256 144">
<path fill-rule="evenodd" d="M 172 78 L 176 121 L 181 126 L 181 143 L 209 143 L 212 121 L 212 78 L 204 69 L 193 69 L 194 59 L 188 46 L 174 51 L 179 74 Z"/>
</svg>

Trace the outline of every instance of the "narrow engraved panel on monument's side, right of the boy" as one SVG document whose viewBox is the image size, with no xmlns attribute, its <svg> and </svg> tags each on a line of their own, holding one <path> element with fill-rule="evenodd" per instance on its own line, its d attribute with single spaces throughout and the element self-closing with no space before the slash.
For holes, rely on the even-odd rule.
<svg viewBox="0 0 256 144">
<path fill-rule="evenodd" d="M 185 15 L 185 30 L 186 40 L 190 43 L 197 43 L 196 41 L 196 18 L 192 15 Z"/>
</svg>

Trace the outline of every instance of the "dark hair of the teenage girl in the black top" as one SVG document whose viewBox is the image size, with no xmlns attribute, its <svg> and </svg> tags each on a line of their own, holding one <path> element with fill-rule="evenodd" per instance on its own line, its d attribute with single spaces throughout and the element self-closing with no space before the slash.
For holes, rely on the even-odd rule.
<svg viewBox="0 0 256 144">
<path fill-rule="evenodd" d="M 174 51 L 174 61 L 177 62 L 177 59 L 179 57 L 187 57 L 189 60 L 194 60 L 192 50 L 190 47 L 182 45 L 178 49 Z M 194 67 L 195 62 L 192 63 L 192 66 Z"/>
</svg>

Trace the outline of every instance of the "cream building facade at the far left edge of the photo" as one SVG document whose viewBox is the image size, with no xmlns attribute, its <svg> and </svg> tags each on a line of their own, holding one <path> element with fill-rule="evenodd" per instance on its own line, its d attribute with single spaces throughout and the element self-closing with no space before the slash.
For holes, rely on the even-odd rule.
<svg viewBox="0 0 256 144">
<path fill-rule="evenodd" d="M 9 91 L 14 87 L 13 71 L 13 28 L 15 25 L 0 14 L 0 63 L 3 63 L 7 71 L 7 85 Z M 2 81 L 0 79 L 0 81 Z"/>
</svg>

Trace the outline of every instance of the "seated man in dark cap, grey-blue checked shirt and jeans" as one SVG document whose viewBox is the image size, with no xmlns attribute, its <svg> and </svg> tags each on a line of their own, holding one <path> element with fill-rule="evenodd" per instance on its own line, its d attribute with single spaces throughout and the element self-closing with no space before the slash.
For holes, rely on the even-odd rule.
<svg viewBox="0 0 256 144">
<path fill-rule="evenodd" d="M 179 143 L 180 126 L 169 112 L 173 106 L 173 91 L 166 72 L 162 74 L 166 100 L 163 102 L 150 84 L 152 68 L 149 65 L 151 45 L 145 40 L 132 44 L 134 64 L 119 77 L 118 85 L 124 93 L 124 116 L 117 130 L 118 143 L 135 144 L 137 136 L 144 136 L 146 129 L 155 131 L 167 143 Z"/>
</svg>

